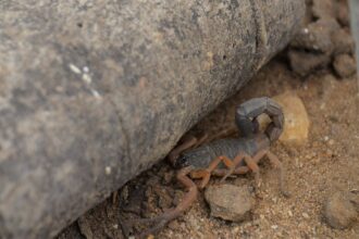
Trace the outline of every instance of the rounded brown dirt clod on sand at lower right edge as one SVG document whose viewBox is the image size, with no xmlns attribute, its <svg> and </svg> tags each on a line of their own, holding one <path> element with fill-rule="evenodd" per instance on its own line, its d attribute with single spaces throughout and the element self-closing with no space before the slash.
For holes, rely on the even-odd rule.
<svg viewBox="0 0 359 239">
<path fill-rule="evenodd" d="M 356 221 L 357 215 L 348 192 L 335 192 L 327 198 L 324 204 L 325 221 L 333 228 L 345 229 L 349 227 Z"/>
</svg>

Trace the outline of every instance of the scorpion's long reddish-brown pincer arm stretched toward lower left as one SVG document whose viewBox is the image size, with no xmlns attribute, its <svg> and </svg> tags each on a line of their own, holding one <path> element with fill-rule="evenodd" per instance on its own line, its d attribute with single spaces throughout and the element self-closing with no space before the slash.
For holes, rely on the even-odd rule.
<svg viewBox="0 0 359 239">
<path fill-rule="evenodd" d="M 193 171 L 193 167 L 188 166 L 188 167 L 182 168 L 177 174 L 178 181 L 188 189 L 188 191 L 185 194 L 185 197 L 183 198 L 183 200 L 175 207 L 170 209 L 168 212 L 164 212 L 162 215 L 159 215 L 153 218 L 144 218 L 144 219 L 137 221 L 136 223 L 139 223 L 139 224 L 144 224 L 144 223 L 146 223 L 146 224 L 156 223 L 157 224 L 156 226 L 141 232 L 137 237 L 144 238 L 147 235 L 154 234 L 156 231 L 158 231 L 159 229 L 164 227 L 165 224 L 168 224 L 170 221 L 180 216 L 184 211 L 186 211 L 193 204 L 193 202 L 197 199 L 198 188 L 197 188 L 196 184 L 188 177 L 188 174 L 191 171 Z"/>
</svg>

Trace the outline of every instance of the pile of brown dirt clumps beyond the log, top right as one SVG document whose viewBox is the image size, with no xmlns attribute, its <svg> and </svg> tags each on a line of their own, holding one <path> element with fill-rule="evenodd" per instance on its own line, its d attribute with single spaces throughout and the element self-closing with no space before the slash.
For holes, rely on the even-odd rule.
<svg viewBox="0 0 359 239">
<path fill-rule="evenodd" d="M 342 77 L 356 72 L 354 40 L 346 1 L 312 0 L 300 33 L 292 41 L 288 58 L 293 71 L 307 76 L 332 66 Z"/>
</svg>

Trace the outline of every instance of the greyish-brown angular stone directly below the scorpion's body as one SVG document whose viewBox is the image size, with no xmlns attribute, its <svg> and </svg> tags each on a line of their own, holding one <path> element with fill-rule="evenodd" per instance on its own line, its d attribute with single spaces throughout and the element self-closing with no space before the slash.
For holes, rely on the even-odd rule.
<svg viewBox="0 0 359 239">
<path fill-rule="evenodd" d="M 226 221 L 242 222 L 246 219 L 253 206 L 253 198 L 247 187 L 209 186 L 205 197 L 211 207 L 211 216 Z"/>
</svg>

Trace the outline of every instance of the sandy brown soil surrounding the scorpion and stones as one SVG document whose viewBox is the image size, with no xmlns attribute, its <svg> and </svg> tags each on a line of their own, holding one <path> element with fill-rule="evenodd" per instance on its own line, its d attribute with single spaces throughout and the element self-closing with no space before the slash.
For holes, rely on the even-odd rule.
<svg viewBox="0 0 359 239">
<path fill-rule="evenodd" d="M 312 5 L 312 1 L 308 2 Z M 321 1 L 314 2 L 318 5 Z M 343 1 L 338 2 L 342 4 Z M 348 26 L 343 24 L 347 23 L 343 11 L 339 12 L 341 30 L 348 30 Z M 308 22 L 317 21 L 317 15 L 324 13 L 315 13 Z M 325 54 L 333 61 L 331 54 L 335 49 L 330 49 L 330 53 L 313 54 Z M 292 197 L 284 198 L 278 193 L 276 172 L 263 161 L 262 185 L 250 219 L 230 223 L 210 217 L 201 192 L 190 210 L 172 221 L 156 238 L 359 238 L 359 222 L 348 229 L 333 229 L 322 214 L 329 196 L 339 190 L 359 189 L 359 93 L 356 76 L 342 79 L 330 63 L 310 73 L 295 73 L 287 56 L 292 50 L 289 48 L 272 60 L 242 91 L 219 105 L 188 133 L 215 136 L 223 129 L 234 129 L 234 110 L 239 103 L 253 97 L 295 91 L 302 99 L 311 122 L 308 142 L 301 147 L 276 142 L 272 147 L 285 165 Z M 295 51 L 301 50 L 300 45 L 295 46 Z M 302 51 L 310 53 L 308 49 Z M 160 162 L 123 187 L 115 201 L 108 199 L 58 238 L 123 238 L 121 225 L 128 224 L 128 218 L 152 217 L 182 199 L 184 189 L 174 176 L 174 169 L 165 161 Z M 210 184 L 219 184 L 219 180 L 213 178 Z M 253 177 L 244 175 L 227 179 L 227 184 L 252 186 Z"/>
</svg>

